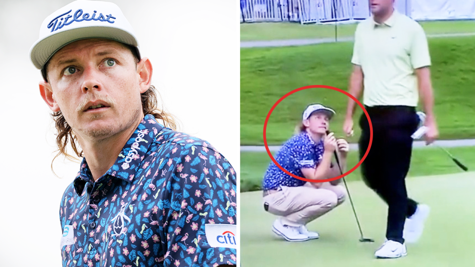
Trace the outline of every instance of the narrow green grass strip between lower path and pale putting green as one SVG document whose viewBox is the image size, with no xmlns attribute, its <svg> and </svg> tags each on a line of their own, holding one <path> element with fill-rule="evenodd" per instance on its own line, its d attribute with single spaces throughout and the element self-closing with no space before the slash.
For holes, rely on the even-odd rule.
<svg viewBox="0 0 475 267">
<path fill-rule="evenodd" d="M 475 170 L 475 146 L 447 148 L 459 159 L 469 171 Z M 275 153 L 273 153 L 275 156 Z M 357 151 L 348 153 L 347 169 L 350 170 L 358 163 Z M 241 192 L 261 190 L 261 183 L 271 158 L 266 152 L 241 152 Z M 441 175 L 461 172 L 459 167 L 439 148 L 428 146 L 413 149 L 411 169 L 408 177 Z M 360 167 L 345 177 L 347 181 L 361 179 Z"/>
</svg>

